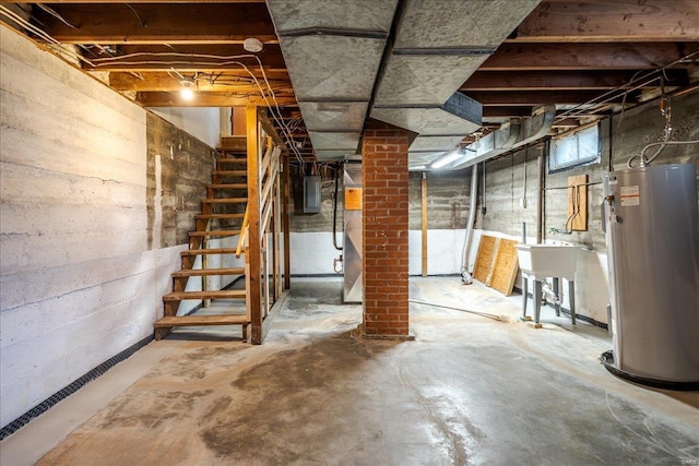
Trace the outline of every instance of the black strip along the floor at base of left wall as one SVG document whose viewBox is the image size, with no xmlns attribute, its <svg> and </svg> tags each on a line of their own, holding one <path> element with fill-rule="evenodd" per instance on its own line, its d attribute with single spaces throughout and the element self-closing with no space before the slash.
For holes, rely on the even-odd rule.
<svg viewBox="0 0 699 466">
<path fill-rule="evenodd" d="M 103 363 L 97 366 L 96 368 L 92 369 L 90 372 L 87 372 L 83 377 L 74 380 L 69 385 L 67 385 L 63 389 L 59 390 L 58 392 L 56 392 L 55 394 L 52 394 L 51 396 L 49 396 L 48 398 L 46 398 L 45 401 L 43 401 L 42 403 L 36 405 L 35 407 L 33 407 L 32 409 L 29 409 L 28 411 L 23 414 L 22 416 L 20 416 L 19 418 L 16 418 L 12 422 L 8 423 L 2 429 L 0 429 L 0 440 L 3 440 L 5 438 L 12 435 L 14 432 L 20 430 L 22 427 L 24 427 L 27 423 L 29 423 L 29 421 L 32 419 L 43 415 L 49 408 L 55 406 L 58 402 L 68 398 L 70 395 L 72 395 L 73 393 L 78 392 L 80 389 L 82 389 L 83 386 L 85 386 L 86 384 L 92 382 L 93 380 L 98 379 L 105 372 L 107 372 L 109 369 L 111 369 L 112 367 L 115 367 L 119 362 L 128 359 L 135 351 L 138 351 L 141 348 L 143 348 L 145 345 L 147 345 L 152 340 L 153 340 L 153 335 L 146 336 L 142 340 L 131 345 L 130 347 L 128 347 L 123 351 L 119 353 L 118 355 L 112 356 L 111 358 L 107 359 L 106 361 L 104 361 Z"/>
</svg>

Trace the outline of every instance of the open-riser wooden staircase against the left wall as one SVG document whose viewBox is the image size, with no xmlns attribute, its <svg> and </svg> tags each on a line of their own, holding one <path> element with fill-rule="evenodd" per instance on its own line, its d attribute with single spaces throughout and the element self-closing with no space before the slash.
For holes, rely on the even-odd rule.
<svg viewBox="0 0 699 466">
<path fill-rule="evenodd" d="M 189 249 L 181 253 L 181 270 L 173 276 L 173 292 L 163 297 L 164 316 L 155 322 L 155 339 L 167 335 L 173 327 L 200 325 L 241 325 L 242 340 L 247 342 L 250 324 L 250 307 L 248 301 L 249 273 L 248 258 L 244 247 L 248 202 L 247 157 L 239 151 L 221 151 L 216 159 L 216 168 L 212 171 L 212 183 L 206 187 L 206 199 L 201 202 L 201 214 L 196 216 L 196 230 L 189 232 Z M 211 248 L 212 239 L 237 236 L 237 244 L 227 248 Z M 246 266 L 209 267 L 216 262 L 230 262 L 233 258 L 245 254 Z M 202 258 L 201 268 L 193 268 L 198 256 Z M 214 256 L 216 256 L 214 260 Z M 245 289 L 209 289 L 211 277 L 220 276 L 220 283 L 237 277 L 232 284 L 246 279 Z M 199 277 L 202 289 L 187 291 L 190 278 Z M 227 278 L 225 278 L 227 277 Z M 201 300 L 208 308 L 211 300 L 245 300 L 245 313 L 225 311 L 221 314 L 202 314 L 196 311 L 189 315 L 177 315 L 179 306 L 185 300 Z"/>
</svg>

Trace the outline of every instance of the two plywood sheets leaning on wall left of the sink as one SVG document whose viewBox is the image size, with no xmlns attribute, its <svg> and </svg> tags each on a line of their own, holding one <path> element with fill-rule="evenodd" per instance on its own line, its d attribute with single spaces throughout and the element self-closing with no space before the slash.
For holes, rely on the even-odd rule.
<svg viewBox="0 0 699 466">
<path fill-rule="evenodd" d="M 513 240 L 483 235 L 473 276 L 484 285 L 510 296 L 519 268 L 516 243 Z"/>
</svg>

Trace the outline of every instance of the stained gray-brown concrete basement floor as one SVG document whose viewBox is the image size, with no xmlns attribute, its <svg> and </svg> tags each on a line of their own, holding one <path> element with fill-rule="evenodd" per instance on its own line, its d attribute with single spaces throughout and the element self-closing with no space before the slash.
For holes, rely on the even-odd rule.
<svg viewBox="0 0 699 466">
<path fill-rule="evenodd" d="M 294 280 L 262 346 L 154 342 L 0 443 L 2 466 L 699 464 L 699 393 L 636 386 L 605 331 L 413 278 L 414 342 L 357 340 L 339 279 Z M 198 338 L 204 334 L 199 333 Z"/>
</svg>

